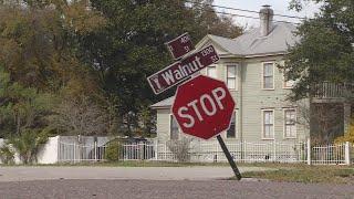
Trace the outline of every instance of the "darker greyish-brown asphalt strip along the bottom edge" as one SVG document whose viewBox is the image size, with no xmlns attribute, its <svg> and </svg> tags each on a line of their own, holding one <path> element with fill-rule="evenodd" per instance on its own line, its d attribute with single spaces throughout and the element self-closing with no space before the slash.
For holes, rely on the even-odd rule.
<svg viewBox="0 0 354 199">
<path fill-rule="evenodd" d="M 231 180 L 37 180 L 0 182 L 0 198 L 353 198 L 352 186 Z"/>
</svg>

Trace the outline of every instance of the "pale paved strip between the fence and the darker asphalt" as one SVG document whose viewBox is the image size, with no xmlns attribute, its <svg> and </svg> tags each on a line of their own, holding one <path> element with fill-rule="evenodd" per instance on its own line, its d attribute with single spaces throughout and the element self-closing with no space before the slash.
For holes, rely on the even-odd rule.
<svg viewBox="0 0 354 199">
<path fill-rule="evenodd" d="M 240 167 L 241 172 L 271 168 Z M 48 179 L 212 180 L 233 176 L 230 167 L 2 167 L 0 181 Z"/>
</svg>

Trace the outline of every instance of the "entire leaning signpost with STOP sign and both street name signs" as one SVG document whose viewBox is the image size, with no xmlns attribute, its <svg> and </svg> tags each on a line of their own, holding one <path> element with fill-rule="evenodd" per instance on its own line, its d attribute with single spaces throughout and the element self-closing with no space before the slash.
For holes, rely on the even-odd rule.
<svg viewBox="0 0 354 199">
<path fill-rule="evenodd" d="M 236 103 L 225 82 L 192 74 L 219 61 L 212 45 L 191 53 L 194 46 L 188 33 L 166 43 L 175 63 L 147 77 L 154 93 L 178 85 L 171 107 L 181 132 L 202 139 L 217 137 L 238 180 L 241 174 L 220 134 L 230 127 Z M 183 84 L 181 84 L 183 83 Z"/>
</svg>

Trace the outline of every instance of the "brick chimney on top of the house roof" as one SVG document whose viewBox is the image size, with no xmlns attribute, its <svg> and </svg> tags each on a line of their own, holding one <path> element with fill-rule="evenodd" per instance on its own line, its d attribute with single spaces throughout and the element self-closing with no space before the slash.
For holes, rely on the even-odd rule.
<svg viewBox="0 0 354 199">
<path fill-rule="evenodd" d="M 262 9 L 259 11 L 261 36 L 267 36 L 271 32 L 273 28 L 273 14 L 274 12 L 269 4 L 262 6 Z"/>
</svg>

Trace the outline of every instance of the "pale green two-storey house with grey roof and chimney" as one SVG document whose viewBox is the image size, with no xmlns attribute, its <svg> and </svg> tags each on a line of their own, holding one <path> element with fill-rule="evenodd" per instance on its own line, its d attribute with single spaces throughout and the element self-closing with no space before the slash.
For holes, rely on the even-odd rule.
<svg viewBox="0 0 354 199">
<path fill-rule="evenodd" d="M 331 114 L 340 118 L 334 132 L 343 134 L 351 105 L 340 97 L 332 96 L 334 101 L 329 101 L 321 95 L 296 103 L 287 101 L 294 82 L 287 82 L 277 65 L 284 63 L 289 45 L 300 41 L 293 33 L 295 29 L 292 23 L 273 22 L 273 10 L 266 6 L 260 11 L 259 28 L 236 39 L 209 34 L 196 45 L 197 51 L 209 44 L 215 46 L 220 61 L 201 74 L 225 81 L 237 103 L 230 128 L 221 134 L 227 142 L 303 142 L 310 137 L 310 129 L 316 132 L 321 127 L 311 109 L 323 103 L 339 104 L 342 108 L 336 115 Z M 157 112 L 158 142 L 185 136 L 171 116 L 173 102 L 174 97 L 169 97 L 152 106 Z M 337 136 L 332 134 L 330 130 L 325 135 L 329 140 Z"/>
</svg>

